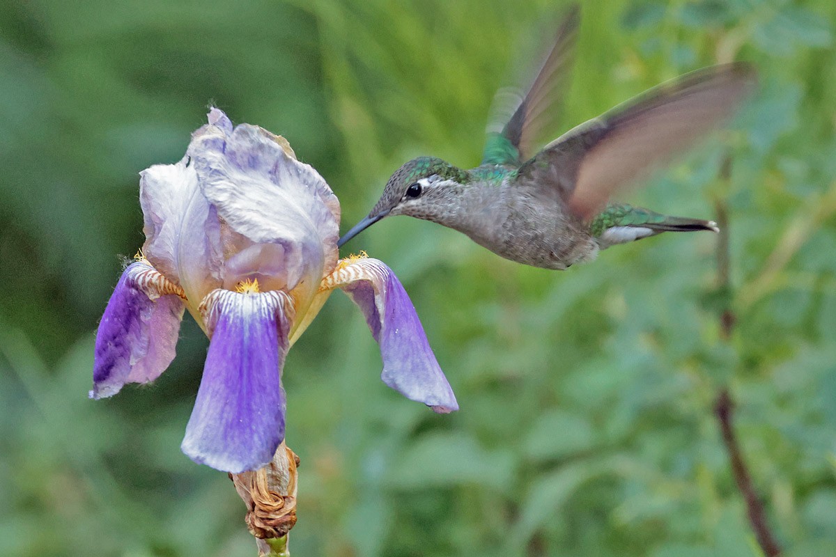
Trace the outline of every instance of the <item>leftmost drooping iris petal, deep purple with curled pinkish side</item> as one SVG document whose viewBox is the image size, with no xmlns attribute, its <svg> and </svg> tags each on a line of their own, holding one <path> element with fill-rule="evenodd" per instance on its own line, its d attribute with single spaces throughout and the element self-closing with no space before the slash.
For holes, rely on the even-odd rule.
<svg viewBox="0 0 836 557">
<path fill-rule="evenodd" d="M 150 382 L 174 359 L 184 301 L 147 261 L 125 269 L 96 332 L 91 398 Z"/>
</svg>

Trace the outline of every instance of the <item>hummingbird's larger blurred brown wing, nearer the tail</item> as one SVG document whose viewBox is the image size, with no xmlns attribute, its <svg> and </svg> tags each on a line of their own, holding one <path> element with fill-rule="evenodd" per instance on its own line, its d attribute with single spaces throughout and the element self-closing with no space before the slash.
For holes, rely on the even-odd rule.
<svg viewBox="0 0 836 557">
<path fill-rule="evenodd" d="M 728 118 L 756 75 L 746 63 L 687 73 L 569 130 L 528 160 L 517 184 L 556 189 L 589 220 L 609 196 L 645 178 Z"/>
</svg>

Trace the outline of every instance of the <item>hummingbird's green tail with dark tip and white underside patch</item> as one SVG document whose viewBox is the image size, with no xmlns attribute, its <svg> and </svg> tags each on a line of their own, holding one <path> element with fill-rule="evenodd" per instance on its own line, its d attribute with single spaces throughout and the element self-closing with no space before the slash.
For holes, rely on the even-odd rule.
<svg viewBox="0 0 836 557">
<path fill-rule="evenodd" d="M 640 240 L 662 232 L 695 232 L 697 230 L 720 231 L 713 220 L 661 215 L 652 210 L 626 204 L 608 205 L 590 225 L 590 231 L 602 250 L 615 244 Z"/>
</svg>

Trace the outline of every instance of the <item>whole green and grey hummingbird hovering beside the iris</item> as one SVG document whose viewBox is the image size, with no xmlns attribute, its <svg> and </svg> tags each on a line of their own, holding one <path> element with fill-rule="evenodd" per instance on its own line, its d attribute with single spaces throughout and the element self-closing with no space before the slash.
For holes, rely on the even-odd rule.
<svg viewBox="0 0 836 557">
<path fill-rule="evenodd" d="M 608 201 L 721 124 L 752 89 L 755 73 L 742 63 L 688 73 L 533 153 L 559 103 L 578 23 L 573 7 L 528 94 L 501 131 L 489 131 L 482 165 L 463 170 L 435 157 L 410 160 L 338 245 L 386 216 L 410 215 L 459 230 L 512 261 L 566 269 L 661 232 L 718 231 L 711 220 Z"/>
</svg>

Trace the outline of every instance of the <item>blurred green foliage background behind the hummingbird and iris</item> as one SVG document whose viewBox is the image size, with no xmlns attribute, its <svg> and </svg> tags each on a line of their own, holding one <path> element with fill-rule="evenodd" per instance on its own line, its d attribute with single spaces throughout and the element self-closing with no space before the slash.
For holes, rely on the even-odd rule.
<svg viewBox="0 0 836 557">
<path fill-rule="evenodd" d="M 285 367 L 293 554 L 758 555 L 712 415 L 726 385 L 786 554 L 836 554 L 836 3 L 583 8 L 567 129 L 709 63 L 759 69 L 732 131 L 631 198 L 726 205 L 730 287 L 709 234 L 549 272 L 431 223 L 375 225 L 352 247 L 404 281 L 461 411 L 386 388 L 335 294 Z M 154 385 L 86 398 L 119 255 L 143 240 L 137 173 L 178 160 L 208 103 L 285 135 L 352 225 L 411 156 L 477 164 L 493 92 L 559 10 L 3 2 L 0 554 L 255 554 L 226 475 L 179 449 L 206 352 L 193 322 Z"/>
</svg>

